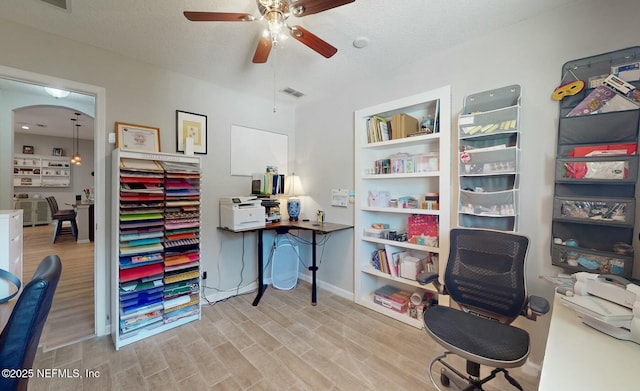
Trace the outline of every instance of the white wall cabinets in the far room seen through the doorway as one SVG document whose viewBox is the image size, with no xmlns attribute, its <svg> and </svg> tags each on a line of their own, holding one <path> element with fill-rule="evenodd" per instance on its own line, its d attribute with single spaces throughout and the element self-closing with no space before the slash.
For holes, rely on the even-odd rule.
<svg viewBox="0 0 640 391">
<path fill-rule="evenodd" d="M 22 187 L 68 187 L 71 163 L 65 156 L 17 154 L 13 157 L 13 185 Z"/>
</svg>

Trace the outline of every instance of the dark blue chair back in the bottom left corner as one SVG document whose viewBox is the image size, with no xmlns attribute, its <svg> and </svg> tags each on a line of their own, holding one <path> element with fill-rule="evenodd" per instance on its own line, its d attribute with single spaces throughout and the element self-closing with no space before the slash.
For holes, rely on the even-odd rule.
<svg viewBox="0 0 640 391">
<path fill-rule="evenodd" d="M 61 273 L 60 258 L 49 255 L 40 262 L 31 281 L 20 293 L 0 334 L 0 368 L 3 370 L 32 368 Z M 1 376 L 0 390 L 26 391 L 28 381 L 29 376 Z"/>
</svg>

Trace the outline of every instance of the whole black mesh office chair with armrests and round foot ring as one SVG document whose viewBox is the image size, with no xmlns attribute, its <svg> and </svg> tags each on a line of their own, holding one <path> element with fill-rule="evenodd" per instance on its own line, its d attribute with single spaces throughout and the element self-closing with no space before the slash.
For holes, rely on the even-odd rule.
<svg viewBox="0 0 640 391">
<path fill-rule="evenodd" d="M 423 313 L 427 333 L 447 349 L 429 364 L 440 363 L 440 383 L 451 382 L 461 390 L 482 390 L 482 385 L 502 372 L 519 390 L 522 386 L 505 368 L 522 366 L 529 356 L 529 334 L 511 326 L 518 316 L 535 320 L 549 311 L 549 302 L 527 297 L 525 259 L 526 236 L 488 229 L 454 228 L 450 234 L 449 260 L 444 285 L 435 273 L 423 273 L 420 283 L 433 283 L 440 294 L 448 294 L 462 310 L 433 306 Z M 445 361 L 448 355 L 466 360 L 464 375 Z M 480 366 L 493 367 L 480 378 Z"/>
</svg>

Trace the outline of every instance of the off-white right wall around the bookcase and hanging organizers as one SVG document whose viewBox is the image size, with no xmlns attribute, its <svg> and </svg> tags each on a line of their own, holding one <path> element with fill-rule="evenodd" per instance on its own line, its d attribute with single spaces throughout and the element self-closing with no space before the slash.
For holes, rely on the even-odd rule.
<svg viewBox="0 0 640 391">
<path fill-rule="evenodd" d="M 412 64 L 386 79 L 349 86 L 330 101 L 300 108 L 296 111 L 296 172 L 305 179 L 307 193 L 314 195 L 311 201 L 316 208 L 327 210 L 331 221 L 351 223 L 353 206 L 348 211 L 331 208 L 328 192 L 334 187 L 354 187 L 355 110 L 450 84 L 452 113 L 457 117 L 465 96 L 520 84 L 523 95 L 520 231 L 532 242 L 528 287 L 530 293 L 551 299 L 552 287 L 538 279 L 538 275 L 557 271 L 551 266 L 549 250 L 558 104 L 550 96 L 560 84 L 565 62 L 640 44 L 638 15 L 640 2 L 636 0 L 577 1 L 475 37 L 442 53 L 416 57 Z M 453 138 L 457 140 L 456 118 L 452 126 Z M 456 156 L 455 145 L 453 149 Z M 455 167 L 456 163 L 453 164 Z M 457 181 L 454 183 L 456 187 Z M 457 200 L 452 204 L 457 205 Z M 452 221 L 457 221 L 455 213 Z M 330 242 L 325 252 L 328 261 L 320 269 L 319 278 L 352 291 L 353 252 L 352 247 L 345 245 L 348 243 Z M 640 265 L 636 264 L 635 270 L 638 275 Z M 542 361 L 549 318 L 536 323 L 519 322 L 533 335 L 531 359 L 538 364 Z"/>
</svg>

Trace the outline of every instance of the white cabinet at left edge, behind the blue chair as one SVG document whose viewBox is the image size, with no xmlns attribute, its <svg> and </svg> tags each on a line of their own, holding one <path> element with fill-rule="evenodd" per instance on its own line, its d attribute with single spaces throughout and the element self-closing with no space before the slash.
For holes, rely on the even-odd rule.
<svg viewBox="0 0 640 391">
<path fill-rule="evenodd" d="M 0 210 L 0 269 L 22 280 L 22 210 Z M 0 285 L 0 297 L 10 291 L 8 285 Z"/>
</svg>

